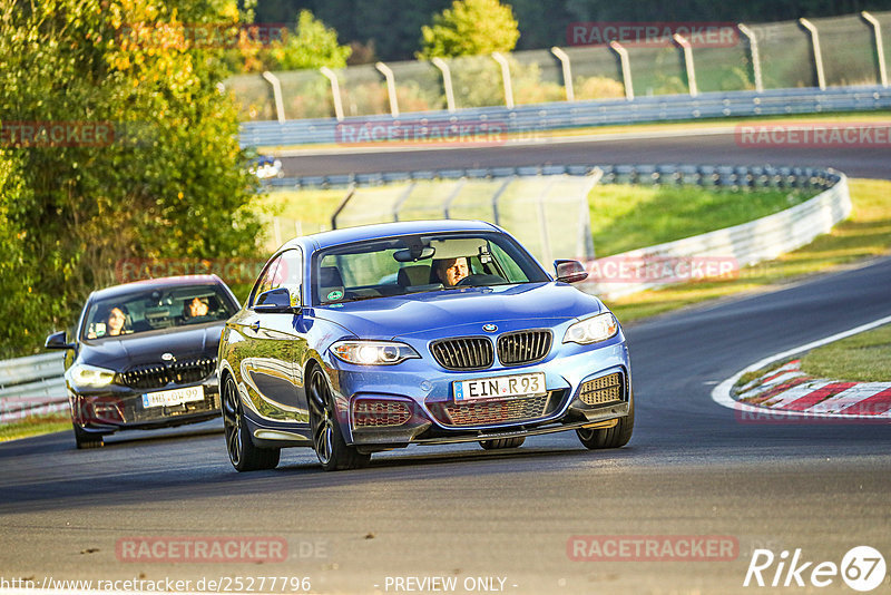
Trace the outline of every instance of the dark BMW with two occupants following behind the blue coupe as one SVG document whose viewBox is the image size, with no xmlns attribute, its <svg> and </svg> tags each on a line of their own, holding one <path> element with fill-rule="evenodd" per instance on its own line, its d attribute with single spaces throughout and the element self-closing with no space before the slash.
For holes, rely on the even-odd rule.
<svg viewBox="0 0 891 595">
<path fill-rule="evenodd" d="M 137 281 L 94 292 L 66 350 L 65 379 L 78 448 L 118 430 L 154 429 L 219 414 L 216 354 L 239 309 L 216 275 Z"/>
</svg>

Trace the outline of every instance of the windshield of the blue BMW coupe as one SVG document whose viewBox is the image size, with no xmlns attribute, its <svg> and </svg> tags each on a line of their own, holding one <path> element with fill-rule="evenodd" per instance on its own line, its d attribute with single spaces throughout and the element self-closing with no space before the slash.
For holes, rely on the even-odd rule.
<svg viewBox="0 0 891 595">
<path fill-rule="evenodd" d="M 332 304 L 425 291 L 549 281 L 508 236 L 427 234 L 358 242 L 314 260 L 316 303 Z"/>
</svg>

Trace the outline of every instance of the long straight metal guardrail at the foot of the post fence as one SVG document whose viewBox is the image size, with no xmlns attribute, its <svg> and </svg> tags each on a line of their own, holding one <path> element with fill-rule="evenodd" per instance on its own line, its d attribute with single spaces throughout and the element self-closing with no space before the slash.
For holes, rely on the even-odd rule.
<svg viewBox="0 0 891 595">
<path fill-rule="evenodd" d="M 468 130 L 480 134 L 484 124 L 495 134 L 526 135 L 536 131 L 589 126 L 624 125 L 728 117 L 820 114 L 823 111 L 870 111 L 891 109 L 891 88 L 830 87 L 771 89 L 757 91 L 704 92 L 636 97 L 633 100 L 558 101 L 506 107 L 468 108 L 456 111 L 418 111 L 389 115 L 316 118 L 242 124 L 242 147 L 283 147 L 307 144 L 355 146 L 354 139 L 392 138 L 384 127 L 439 126 L 460 142 Z M 464 125 L 463 127 L 461 125 Z M 380 133 L 375 133 L 380 127 Z M 368 135 L 356 134 L 365 129 Z M 349 134 L 345 134 L 347 130 Z M 378 136 L 372 136 L 376 134 Z M 384 135 L 381 137 L 380 135 Z M 438 133 L 441 136 L 441 133 Z M 428 143 L 434 144 L 434 143 Z M 418 143 L 419 147 L 423 143 Z"/>
</svg>

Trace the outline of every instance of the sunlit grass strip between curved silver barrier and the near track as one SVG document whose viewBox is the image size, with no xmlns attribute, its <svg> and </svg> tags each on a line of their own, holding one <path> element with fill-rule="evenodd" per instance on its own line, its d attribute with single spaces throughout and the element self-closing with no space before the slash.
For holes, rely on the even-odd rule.
<svg viewBox="0 0 891 595">
<path fill-rule="evenodd" d="M 672 285 L 609 301 L 608 305 L 619 320 L 630 322 L 706 300 L 768 291 L 796 277 L 891 253 L 891 182 L 851 179 L 849 184 L 851 217 L 809 245 L 744 269 L 737 279 Z"/>
</svg>

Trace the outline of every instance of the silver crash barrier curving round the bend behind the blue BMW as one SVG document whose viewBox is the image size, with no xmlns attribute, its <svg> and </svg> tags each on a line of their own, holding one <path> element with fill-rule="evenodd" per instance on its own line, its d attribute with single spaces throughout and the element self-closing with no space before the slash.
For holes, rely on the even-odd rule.
<svg viewBox="0 0 891 595">
<path fill-rule="evenodd" d="M 601 184 L 697 185 L 745 192 L 755 188 L 816 189 L 820 194 L 805 203 L 780 213 L 734 227 L 717 230 L 667 244 L 613 255 L 610 260 L 627 263 L 658 263 L 672 260 L 726 259 L 734 270 L 773 259 L 806 245 L 820 234 L 848 217 L 851 198 L 848 178 L 832 169 L 814 167 L 712 166 L 712 165 L 549 165 L 380 174 L 306 176 L 268 181 L 270 187 L 346 187 L 373 186 L 413 179 L 499 178 L 512 176 L 575 175 L 585 176 L 597 167 L 603 170 Z M 744 199 L 744 195 L 742 195 Z M 510 230 L 508 230 L 510 231 Z M 597 250 L 595 244 L 594 250 Z M 581 259 L 579 254 L 554 254 L 555 257 Z M 594 267 L 597 261 L 589 261 Z M 545 263 L 548 265 L 549 263 Z M 640 282 L 611 280 L 586 283 L 582 287 L 609 299 L 666 284 L 665 279 Z"/>
</svg>

